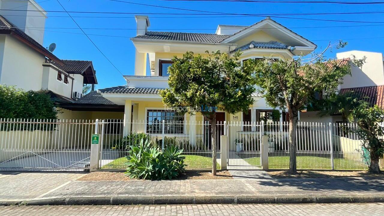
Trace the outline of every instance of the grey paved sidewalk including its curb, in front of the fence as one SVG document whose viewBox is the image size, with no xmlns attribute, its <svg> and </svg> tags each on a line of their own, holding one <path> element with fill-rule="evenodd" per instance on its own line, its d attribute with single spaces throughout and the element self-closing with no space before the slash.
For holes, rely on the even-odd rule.
<svg viewBox="0 0 384 216">
<path fill-rule="evenodd" d="M 384 179 L 377 178 L 75 181 L 84 174 L 6 175 L 0 178 L 0 203 L 384 202 Z"/>
</svg>

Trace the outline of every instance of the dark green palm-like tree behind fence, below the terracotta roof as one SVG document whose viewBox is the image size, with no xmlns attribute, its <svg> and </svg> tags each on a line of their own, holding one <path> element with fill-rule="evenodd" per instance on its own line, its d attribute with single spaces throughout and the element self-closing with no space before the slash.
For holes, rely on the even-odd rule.
<svg viewBox="0 0 384 216">
<path fill-rule="evenodd" d="M 322 108 L 318 115 L 320 117 L 326 115 L 340 114 L 343 122 L 347 122 L 352 116 L 353 110 L 361 105 L 361 98 L 354 91 L 344 94 L 332 94 L 329 98 L 323 100 Z"/>
</svg>

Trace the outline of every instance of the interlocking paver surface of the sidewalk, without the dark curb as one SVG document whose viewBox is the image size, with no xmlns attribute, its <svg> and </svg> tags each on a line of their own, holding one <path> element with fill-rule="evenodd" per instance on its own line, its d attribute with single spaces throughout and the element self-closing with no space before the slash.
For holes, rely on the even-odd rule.
<svg viewBox="0 0 384 216">
<path fill-rule="evenodd" d="M 245 196 L 374 195 L 381 196 L 384 201 L 384 179 L 381 178 L 75 181 L 82 175 L 83 173 L 8 175 L 0 178 L 0 200 L 31 201 L 50 198 L 97 197 L 174 199 L 180 197 L 193 198 L 196 201 L 199 197 L 220 199 L 220 197 Z"/>
</svg>

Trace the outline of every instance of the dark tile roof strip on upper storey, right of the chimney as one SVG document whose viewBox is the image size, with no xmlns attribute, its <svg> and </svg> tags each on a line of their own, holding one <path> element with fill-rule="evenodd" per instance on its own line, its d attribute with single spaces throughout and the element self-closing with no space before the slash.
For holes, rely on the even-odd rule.
<svg viewBox="0 0 384 216">
<path fill-rule="evenodd" d="M 218 43 L 229 35 L 218 35 L 209 33 L 184 33 L 184 32 L 147 32 L 146 35 L 137 35 L 138 39 L 152 40 L 176 40 L 191 42 Z"/>
</svg>

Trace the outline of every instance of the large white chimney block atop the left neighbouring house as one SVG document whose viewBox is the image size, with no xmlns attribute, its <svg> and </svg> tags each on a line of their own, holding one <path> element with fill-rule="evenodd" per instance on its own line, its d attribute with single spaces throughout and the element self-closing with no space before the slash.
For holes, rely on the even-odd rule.
<svg viewBox="0 0 384 216">
<path fill-rule="evenodd" d="M 20 11 L 5 10 L 12 8 Z M 34 0 L 0 0 L 0 14 L 43 45 L 47 13 Z"/>
</svg>

